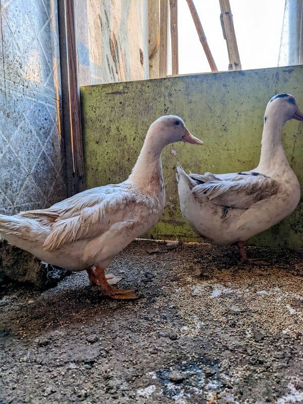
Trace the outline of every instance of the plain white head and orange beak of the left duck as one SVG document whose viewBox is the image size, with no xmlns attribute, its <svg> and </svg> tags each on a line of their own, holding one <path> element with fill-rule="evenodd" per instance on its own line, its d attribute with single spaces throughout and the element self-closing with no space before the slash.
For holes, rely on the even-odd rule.
<svg viewBox="0 0 303 404">
<path fill-rule="evenodd" d="M 184 121 L 177 115 L 165 115 L 153 122 L 147 132 L 146 140 L 157 142 L 162 148 L 170 143 L 179 141 L 203 144 L 203 141 L 193 136 L 185 126 Z"/>
</svg>

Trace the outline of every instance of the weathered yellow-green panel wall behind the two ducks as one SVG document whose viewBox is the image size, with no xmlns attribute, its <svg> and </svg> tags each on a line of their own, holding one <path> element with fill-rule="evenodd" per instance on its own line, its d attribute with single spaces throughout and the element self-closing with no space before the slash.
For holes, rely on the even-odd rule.
<svg viewBox="0 0 303 404">
<path fill-rule="evenodd" d="M 161 115 L 182 117 L 203 146 L 168 145 L 162 155 L 167 206 L 148 233 L 157 239 L 197 241 L 179 211 L 175 165 L 203 173 L 257 166 L 263 116 L 270 97 L 295 96 L 303 110 L 303 66 L 200 74 L 81 88 L 87 187 L 120 182 L 133 167 L 146 131 Z M 303 185 L 303 125 L 287 122 L 283 144 Z M 283 222 L 250 240 L 267 246 L 303 246 L 303 204 Z"/>
</svg>

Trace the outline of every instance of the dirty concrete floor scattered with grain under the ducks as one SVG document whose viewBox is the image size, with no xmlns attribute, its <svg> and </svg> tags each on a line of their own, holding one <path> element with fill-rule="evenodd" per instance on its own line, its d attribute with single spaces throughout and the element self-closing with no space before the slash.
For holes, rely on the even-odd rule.
<svg viewBox="0 0 303 404">
<path fill-rule="evenodd" d="M 109 268 L 140 298 L 99 297 L 85 272 L 1 290 L 3 403 L 303 403 L 303 260 L 135 241 Z"/>
</svg>

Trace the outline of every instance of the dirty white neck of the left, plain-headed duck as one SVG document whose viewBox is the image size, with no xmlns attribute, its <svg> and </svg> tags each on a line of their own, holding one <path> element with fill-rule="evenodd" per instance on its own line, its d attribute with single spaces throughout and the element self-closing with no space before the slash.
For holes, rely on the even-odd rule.
<svg viewBox="0 0 303 404">
<path fill-rule="evenodd" d="M 146 136 L 138 160 L 129 176 L 129 181 L 135 183 L 143 192 L 158 193 L 163 186 L 161 152 L 163 146 L 154 144 Z"/>
</svg>

